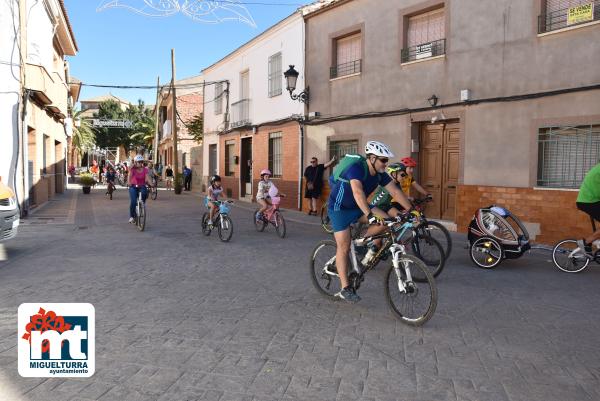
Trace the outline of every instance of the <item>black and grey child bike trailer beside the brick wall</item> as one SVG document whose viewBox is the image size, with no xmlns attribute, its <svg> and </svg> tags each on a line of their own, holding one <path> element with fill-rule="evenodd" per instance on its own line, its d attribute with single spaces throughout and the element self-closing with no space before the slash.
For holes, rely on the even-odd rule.
<svg viewBox="0 0 600 401">
<path fill-rule="evenodd" d="M 471 260 L 483 269 L 492 269 L 503 259 L 519 258 L 531 249 L 529 233 L 521 220 L 495 205 L 475 212 L 468 238 Z"/>
</svg>

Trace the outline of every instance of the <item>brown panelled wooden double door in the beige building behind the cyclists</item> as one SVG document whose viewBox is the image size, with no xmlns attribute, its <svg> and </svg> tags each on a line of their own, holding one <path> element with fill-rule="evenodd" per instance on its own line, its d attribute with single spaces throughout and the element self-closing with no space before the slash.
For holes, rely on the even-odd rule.
<svg viewBox="0 0 600 401">
<path fill-rule="evenodd" d="M 455 220 L 459 144 L 458 123 L 426 124 L 421 127 L 420 180 L 434 199 L 427 206 L 428 217 Z"/>
</svg>

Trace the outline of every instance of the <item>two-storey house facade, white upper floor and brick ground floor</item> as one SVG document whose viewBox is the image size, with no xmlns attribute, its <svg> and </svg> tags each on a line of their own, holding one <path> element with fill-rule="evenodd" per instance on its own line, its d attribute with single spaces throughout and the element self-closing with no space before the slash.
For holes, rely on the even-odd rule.
<svg viewBox="0 0 600 401">
<path fill-rule="evenodd" d="M 304 104 L 290 98 L 283 73 L 294 65 L 304 89 L 304 20 L 294 13 L 203 70 L 205 182 L 222 178 L 228 197 L 251 200 L 269 168 L 285 207 L 299 206 Z"/>
</svg>

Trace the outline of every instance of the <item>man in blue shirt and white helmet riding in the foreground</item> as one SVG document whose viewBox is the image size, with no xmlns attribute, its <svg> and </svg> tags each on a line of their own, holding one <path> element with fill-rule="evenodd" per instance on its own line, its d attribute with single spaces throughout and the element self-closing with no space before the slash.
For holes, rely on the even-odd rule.
<svg viewBox="0 0 600 401">
<path fill-rule="evenodd" d="M 406 196 L 385 171 L 389 158 L 394 157 L 394 154 L 386 145 L 377 141 L 367 142 L 365 153 L 366 159 L 358 155 L 347 155 L 345 158 L 355 157 L 357 162 L 339 172 L 338 177 L 330 178 L 332 188 L 327 212 L 331 219 L 337 245 L 336 266 L 342 288 L 336 296 L 349 302 L 360 301 L 360 297 L 352 291 L 348 280 L 350 226 L 359 220 L 374 224 L 389 217 L 384 211 L 369 205 L 368 195 L 381 185 L 398 200 L 404 209 L 411 209 L 411 204 Z M 342 163 L 343 161 L 340 162 L 338 168 Z M 335 171 L 334 175 L 336 175 Z M 366 236 L 376 235 L 384 230 L 385 227 L 371 226 Z"/>
</svg>

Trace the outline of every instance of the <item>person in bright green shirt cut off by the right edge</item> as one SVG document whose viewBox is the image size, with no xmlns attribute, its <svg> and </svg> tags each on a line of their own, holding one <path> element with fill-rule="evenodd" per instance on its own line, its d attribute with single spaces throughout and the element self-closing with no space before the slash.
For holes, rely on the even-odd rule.
<svg viewBox="0 0 600 401">
<path fill-rule="evenodd" d="M 577 209 L 600 221 L 600 163 L 592 167 L 583 179 L 577 196 Z M 592 242 L 596 240 L 600 240 L 600 229 L 589 237 L 577 241 L 577 246 L 591 259 L 593 258 Z"/>
</svg>

